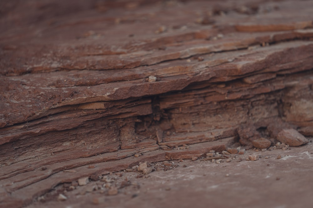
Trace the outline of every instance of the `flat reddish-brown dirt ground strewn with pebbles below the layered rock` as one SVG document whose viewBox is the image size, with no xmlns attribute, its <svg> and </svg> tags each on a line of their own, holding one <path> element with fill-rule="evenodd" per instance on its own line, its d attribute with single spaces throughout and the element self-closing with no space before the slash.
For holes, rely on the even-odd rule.
<svg viewBox="0 0 313 208">
<path fill-rule="evenodd" d="M 28 208 L 310 207 L 313 144 L 312 138 L 309 140 L 301 147 L 250 149 L 243 155 L 228 155 L 230 162 L 199 158 L 151 163 L 155 171 L 147 175 L 130 170 L 115 172 L 73 191 L 64 191 L 66 185 L 59 185 Z M 249 155 L 260 158 L 250 161 Z M 169 170 L 164 171 L 164 167 Z M 106 184 L 118 187 L 118 193 L 110 196 L 111 188 Z M 60 193 L 67 199 L 58 200 Z"/>
</svg>

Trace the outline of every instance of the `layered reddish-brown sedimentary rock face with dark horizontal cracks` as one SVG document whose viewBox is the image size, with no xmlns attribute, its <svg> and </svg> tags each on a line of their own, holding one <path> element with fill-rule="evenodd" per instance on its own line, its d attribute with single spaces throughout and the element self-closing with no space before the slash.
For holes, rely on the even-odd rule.
<svg viewBox="0 0 313 208">
<path fill-rule="evenodd" d="M 259 148 L 284 129 L 313 136 L 312 7 L 0 2 L 0 203 L 25 206 L 139 162 L 199 158 L 238 135 Z"/>
</svg>

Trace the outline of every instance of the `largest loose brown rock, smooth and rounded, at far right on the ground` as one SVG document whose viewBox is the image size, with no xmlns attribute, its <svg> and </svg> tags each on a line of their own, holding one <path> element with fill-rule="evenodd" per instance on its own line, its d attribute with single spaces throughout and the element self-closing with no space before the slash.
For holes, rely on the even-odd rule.
<svg viewBox="0 0 313 208">
<path fill-rule="evenodd" d="M 277 140 L 289 146 L 300 146 L 308 143 L 308 140 L 293 128 L 280 131 L 277 135 Z"/>
</svg>

